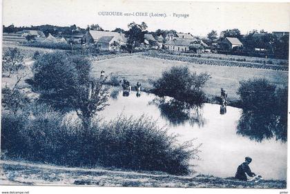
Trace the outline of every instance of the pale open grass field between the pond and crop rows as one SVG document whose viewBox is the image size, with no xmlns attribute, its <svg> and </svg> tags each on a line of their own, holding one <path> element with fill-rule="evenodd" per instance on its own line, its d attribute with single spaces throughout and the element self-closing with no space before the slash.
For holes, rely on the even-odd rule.
<svg viewBox="0 0 290 194">
<path fill-rule="evenodd" d="M 144 88 L 151 88 L 148 79 L 157 79 L 161 76 L 162 71 L 168 70 L 172 66 L 189 66 L 192 71 L 197 73 L 209 72 L 211 79 L 204 88 L 206 95 L 209 95 L 209 97 L 219 96 L 220 88 L 225 88 L 229 100 L 236 100 L 238 99 L 236 92 L 239 87 L 239 81 L 253 77 L 264 77 L 278 87 L 288 86 L 288 72 L 286 71 L 207 66 L 144 56 L 128 56 L 94 61 L 93 72 L 96 77 L 99 77 L 101 70 L 104 70 L 107 75 L 112 72 L 115 75 L 119 75 L 120 79 L 128 79 L 132 85 L 139 81 Z"/>
</svg>

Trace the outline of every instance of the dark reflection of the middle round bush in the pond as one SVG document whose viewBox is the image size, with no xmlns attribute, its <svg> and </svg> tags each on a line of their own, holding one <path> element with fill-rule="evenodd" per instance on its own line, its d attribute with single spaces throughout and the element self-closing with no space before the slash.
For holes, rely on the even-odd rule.
<svg viewBox="0 0 290 194">
<path fill-rule="evenodd" d="M 201 113 L 202 105 L 188 106 L 188 104 L 175 99 L 166 100 L 160 97 L 155 97 L 149 104 L 155 104 L 160 109 L 161 116 L 173 126 L 185 124 L 185 122 L 189 122 L 191 126 L 197 124 L 199 127 L 203 127 L 206 124 Z"/>
</svg>

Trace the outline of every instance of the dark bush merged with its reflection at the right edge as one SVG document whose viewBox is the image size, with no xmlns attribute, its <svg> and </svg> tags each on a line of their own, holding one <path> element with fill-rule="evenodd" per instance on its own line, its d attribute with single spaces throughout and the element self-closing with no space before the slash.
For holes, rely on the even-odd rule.
<svg viewBox="0 0 290 194">
<path fill-rule="evenodd" d="M 287 88 L 278 88 L 267 79 L 240 81 L 238 88 L 242 117 L 238 134 L 257 141 L 276 137 L 287 141 Z"/>
</svg>

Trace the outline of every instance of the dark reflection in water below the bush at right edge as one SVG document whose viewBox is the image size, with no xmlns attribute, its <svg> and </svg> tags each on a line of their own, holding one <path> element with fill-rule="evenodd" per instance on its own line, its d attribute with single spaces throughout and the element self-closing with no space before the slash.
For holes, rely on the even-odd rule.
<svg viewBox="0 0 290 194">
<path fill-rule="evenodd" d="M 249 137 L 249 139 L 254 139 L 257 142 L 273 137 L 276 140 L 286 142 L 287 122 L 283 124 L 278 115 L 243 110 L 238 122 L 237 134 Z"/>
</svg>

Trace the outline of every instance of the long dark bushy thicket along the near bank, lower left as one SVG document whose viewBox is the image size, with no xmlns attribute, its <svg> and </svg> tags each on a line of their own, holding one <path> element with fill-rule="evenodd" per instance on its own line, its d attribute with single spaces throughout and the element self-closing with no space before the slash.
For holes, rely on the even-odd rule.
<svg viewBox="0 0 290 194">
<path fill-rule="evenodd" d="M 3 113 L 1 148 L 6 157 L 66 166 L 110 166 L 175 175 L 190 173 L 197 158 L 191 142 L 177 144 L 173 135 L 147 117 L 119 117 L 94 123 L 83 133 L 49 106 L 31 106 L 24 113 Z M 66 122 L 69 121 L 69 122 Z"/>
</svg>

